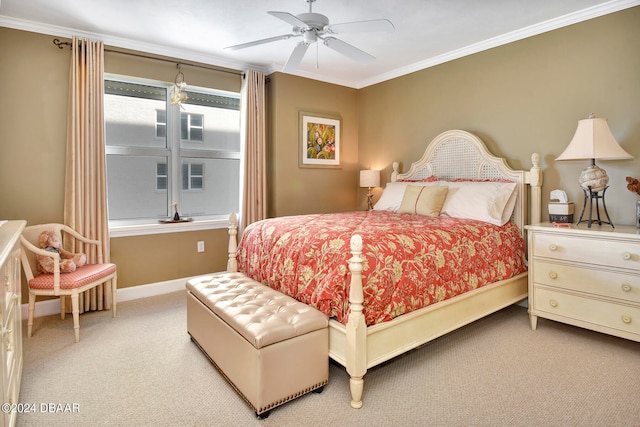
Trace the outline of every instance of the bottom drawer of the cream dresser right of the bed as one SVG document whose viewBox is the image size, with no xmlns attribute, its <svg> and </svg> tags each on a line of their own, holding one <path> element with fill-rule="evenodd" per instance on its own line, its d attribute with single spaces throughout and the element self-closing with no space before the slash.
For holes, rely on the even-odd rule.
<svg viewBox="0 0 640 427">
<path fill-rule="evenodd" d="M 547 288 L 536 289 L 533 305 L 537 312 L 546 312 L 553 317 L 561 316 L 566 318 L 567 323 L 577 321 L 581 324 L 591 324 L 594 325 L 592 329 L 603 332 L 608 328 L 640 334 L 640 307 L 637 306 L 616 304 Z"/>
</svg>

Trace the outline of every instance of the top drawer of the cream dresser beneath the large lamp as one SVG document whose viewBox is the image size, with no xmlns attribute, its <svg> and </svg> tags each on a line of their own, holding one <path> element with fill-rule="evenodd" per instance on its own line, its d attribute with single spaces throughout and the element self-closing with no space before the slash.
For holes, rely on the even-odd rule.
<svg viewBox="0 0 640 427">
<path fill-rule="evenodd" d="M 611 238 L 535 233 L 533 256 L 640 271 L 640 245 Z"/>
</svg>

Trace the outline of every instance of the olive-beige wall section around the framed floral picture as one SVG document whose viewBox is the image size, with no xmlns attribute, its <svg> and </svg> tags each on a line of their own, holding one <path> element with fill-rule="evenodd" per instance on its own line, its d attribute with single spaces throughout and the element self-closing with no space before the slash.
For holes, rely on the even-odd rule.
<svg viewBox="0 0 640 427">
<path fill-rule="evenodd" d="M 275 73 L 270 76 L 267 97 L 268 215 L 355 210 L 358 186 L 357 91 Z M 342 118 L 342 168 L 298 167 L 300 111 Z"/>
</svg>

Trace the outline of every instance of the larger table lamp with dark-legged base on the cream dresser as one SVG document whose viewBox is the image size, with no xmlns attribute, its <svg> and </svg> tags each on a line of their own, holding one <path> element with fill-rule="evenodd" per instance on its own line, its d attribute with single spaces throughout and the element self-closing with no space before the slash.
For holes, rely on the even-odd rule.
<svg viewBox="0 0 640 427">
<path fill-rule="evenodd" d="M 604 169 L 596 165 L 596 159 L 622 160 L 633 159 L 633 156 L 620 147 L 609 130 L 607 119 L 596 118 L 591 114 L 588 119 L 578 121 L 578 128 L 575 135 L 573 135 L 573 139 L 556 160 L 590 160 L 589 166 L 582 171 L 578 179 L 584 192 L 584 203 L 582 205 L 582 213 L 576 224 L 587 222 L 588 227 L 591 228 L 591 224 L 596 222 L 596 220 L 592 219 L 593 204 L 595 202 L 598 225 L 609 224 L 613 227 L 604 201 L 604 193 L 609 188 L 607 185 L 609 177 Z M 587 208 L 587 200 L 589 201 L 589 218 L 583 220 L 582 218 Z M 602 208 L 605 215 L 607 215 L 607 221 L 600 219 L 599 200 L 602 200 Z"/>
</svg>

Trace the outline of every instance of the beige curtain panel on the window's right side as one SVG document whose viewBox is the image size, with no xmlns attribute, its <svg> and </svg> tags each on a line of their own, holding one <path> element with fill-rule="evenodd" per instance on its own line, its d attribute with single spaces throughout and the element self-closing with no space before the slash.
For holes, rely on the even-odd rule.
<svg viewBox="0 0 640 427">
<path fill-rule="evenodd" d="M 264 73 L 245 72 L 241 100 L 244 170 L 240 223 L 243 228 L 267 217 Z"/>
</svg>

